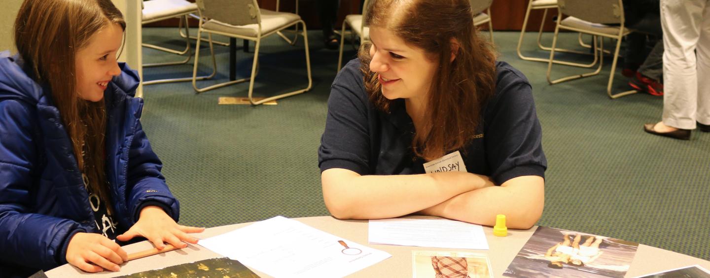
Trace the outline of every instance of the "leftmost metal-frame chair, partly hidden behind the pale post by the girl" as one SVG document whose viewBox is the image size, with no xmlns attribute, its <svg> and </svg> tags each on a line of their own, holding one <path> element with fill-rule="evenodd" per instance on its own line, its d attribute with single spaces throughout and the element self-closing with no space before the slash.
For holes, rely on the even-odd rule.
<svg viewBox="0 0 710 278">
<path fill-rule="evenodd" d="M 180 60 L 180 61 L 175 61 L 175 62 L 160 62 L 160 63 L 151 63 L 151 64 L 143 64 L 143 67 L 162 67 L 162 66 L 168 66 L 168 65 L 184 65 L 187 64 L 187 62 L 190 61 L 190 58 L 192 57 L 192 53 L 190 52 L 190 24 L 187 23 L 187 16 L 189 16 L 191 13 L 197 12 L 197 4 L 195 3 L 190 3 L 187 0 L 151 0 L 151 1 L 143 1 L 141 0 L 141 7 L 143 8 L 143 16 L 141 20 L 141 24 L 148 24 L 148 23 L 153 23 L 156 21 L 164 21 L 169 18 L 180 18 L 180 23 L 178 24 L 178 30 L 180 30 L 180 34 L 182 36 L 182 27 L 184 25 L 185 27 L 185 36 L 182 36 L 182 38 L 185 38 L 185 49 L 184 50 L 173 50 L 170 48 L 164 48 L 159 45 L 153 45 L 149 43 L 141 43 L 141 46 L 146 47 L 146 48 L 153 48 L 155 50 L 160 50 L 163 52 L 168 52 L 168 53 L 173 53 L 176 55 L 187 55 L 185 57 L 185 60 Z M 195 48 L 198 48 L 197 46 Z M 212 74 L 209 75 L 204 75 L 201 77 L 197 77 L 198 79 L 210 79 L 214 77 L 215 72 L 212 72 Z M 157 80 L 149 80 L 143 82 L 143 85 L 151 85 L 151 84 L 160 84 L 160 83 L 169 83 L 169 82 L 185 82 L 185 81 L 190 81 L 192 80 L 192 77 L 183 77 L 183 78 L 172 78 L 172 79 L 157 79 Z"/>
</svg>

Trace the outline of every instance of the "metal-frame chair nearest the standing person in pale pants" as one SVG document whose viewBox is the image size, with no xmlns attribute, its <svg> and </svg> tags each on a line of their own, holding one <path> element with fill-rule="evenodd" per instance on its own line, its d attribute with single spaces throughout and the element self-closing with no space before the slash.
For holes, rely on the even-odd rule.
<svg viewBox="0 0 710 278">
<path fill-rule="evenodd" d="M 574 74 L 555 80 L 551 79 L 550 74 L 552 72 L 552 62 L 555 58 L 555 50 L 557 50 L 555 48 L 557 45 L 557 35 L 559 34 L 559 29 L 562 28 L 565 30 L 594 35 L 595 37 L 615 39 L 616 50 L 614 50 L 613 62 L 611 63 L 611 72 L 609 73 L 609 80 L 606 85 L 606 94 L 608 94 L 611 99 L 616 99 L 621 96 L 637 93 L 637 91 L 631 90 L 611 94 L 611 84 L 613 84 L 619 48 L 621 48 L 621 40 L 625 35 L 631 33 L 628 28 L 624 27 L 625 19 L 622 0 L 558 0 L 558 6 L 560 14 L 565 14 L 569 17 L 564 18 L 564 20 L 561 20 L 562 16 L 557 17 L 555 37 L 552 38 L 552 50 L 550 50 L 550 60 L 547 62 L 547 82 L 550 82 L 550 84 L 557 84 L 559 82 L 593 76 L 601 72 L 603 52 L 599 51 L 599 67 L 594 72 Z M 605 24 L 618 24 L 619 26 L 608 26 Z M 603 49 L 603 40 L 600 40 L 599 48 Z"/>
</svg>

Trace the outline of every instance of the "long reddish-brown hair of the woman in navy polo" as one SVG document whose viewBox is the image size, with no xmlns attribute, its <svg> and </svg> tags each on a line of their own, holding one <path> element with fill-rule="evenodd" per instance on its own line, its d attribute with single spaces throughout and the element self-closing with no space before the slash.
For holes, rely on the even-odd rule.
<svg viewBox="0 0 710 278">
<path fill-rule="evenodd" d="M 367 11 L 366 26 L 386 28 L 439 62 L 425 121 L 412 142 L 415 155 L 434 160 L 463 148 L 479 131 L 481 109 L 496 87 L 496 54 L 474 27 L 469 0 L 371 0 Z M 452 39 L 459 44 L 454 61 Z M 388 111 L 391 101 L 370 71 L 370 46 L 358 54 L 365 88 L 373 104 Z"/>
</svg>

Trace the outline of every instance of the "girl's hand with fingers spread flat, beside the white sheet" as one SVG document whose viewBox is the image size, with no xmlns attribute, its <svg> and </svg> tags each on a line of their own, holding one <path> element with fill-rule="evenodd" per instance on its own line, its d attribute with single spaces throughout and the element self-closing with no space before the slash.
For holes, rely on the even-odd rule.
<svg viewBox="0 0 710 278">
<path fill-rule="evenodd" d="M 203 230 L 204 228 L 178 225 L 173 218 L 168 216 L 168 213 L 163 211 L 163 208 L 146 206 L 141 210 L 138 222 L 126 233 L 117 236 L 116 239 L 126 241 L 140 235 L 150 240 L 158 250 L 165 248 L 165 243 L 170 243 L 176 248 L 185 248 L 187 243 L 197 243 L 197 238 L 193 238 L 187 233 L 202 233 Z"/>
</svg>

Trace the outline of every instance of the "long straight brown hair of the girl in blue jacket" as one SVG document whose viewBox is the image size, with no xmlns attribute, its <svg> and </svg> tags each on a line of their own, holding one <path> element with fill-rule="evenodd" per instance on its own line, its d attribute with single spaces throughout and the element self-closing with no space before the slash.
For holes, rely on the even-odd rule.
<svg viewBox="0 0 710 278">
<path fill-rule="evenodd" d="M 80 99 L 75 55 L 110 24 L 126 30 L 111 0 L 25 0 L 15 21 L 15 45 L 38 84 L 49 87 L 62 123 L 72 140 L 79 169 L 89 190 L 111 204 L 106 179 L 106 109 Z M 85 153 L 84 153 L 85 152 Z M 109 213 L 112 207 L 107 206 Z"/>
</svg>

